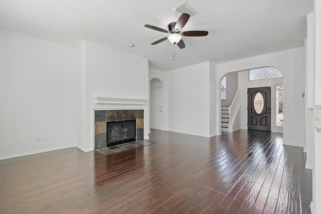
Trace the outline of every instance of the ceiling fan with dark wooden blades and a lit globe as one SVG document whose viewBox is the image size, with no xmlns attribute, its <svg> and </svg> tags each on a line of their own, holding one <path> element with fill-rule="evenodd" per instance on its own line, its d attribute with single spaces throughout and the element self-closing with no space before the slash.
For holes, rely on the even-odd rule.
<svg viewBox="0 0 321 214">
<path fill-rule="evenodd" d="M 182 49 L 182 48 L 185 48 L 185 43 L 182 39 L 183 36 L 185 36 L 185 37 L 203 37 L 203 36 L 207 36 L 209 34 L 209 32 L 207 32 L 207 31 L 185 31 L 185 32 L 181 33 L 181 30 L 184 28 L 184 26 L 186 25 L 186 23 L 189 19 L 190 19 L 189 14 L 185 14 L 185 13 L 182 14 L 177 22 L 172 22 L 169 24 L 169 30 L 158 28 L 158 27 L 155 27 L 152 25 L 144 25 L 144 27 L 146 27 L 146 28 L 150 28 L 155 31 L 160 31 L 160 32 L 170 34 L 167 37 L 164 37 L 160 40 L 157 40 L 157 41 L 151 43 L 151 45 L 156 45 L 158 43 L 164 42 L 165 40 L 169 40 L 171 43 L 173 43 L 174 45 L 177 44 L 177 46 L 180 49 Z"/>
</svg>

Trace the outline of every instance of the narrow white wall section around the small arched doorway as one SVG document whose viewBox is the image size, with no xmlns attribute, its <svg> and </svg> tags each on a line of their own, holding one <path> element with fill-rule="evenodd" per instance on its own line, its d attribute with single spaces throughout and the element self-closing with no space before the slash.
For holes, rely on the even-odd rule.
<svg viewBox="0 0 321 214">
<path fill-rule="evenodd" d="M 148 69 L 148 80 L 149 84 L 152 79 L 158 79 L 162 83 L 162 104 L 163 104 L 163 114 L 162 114 L 162 130 L 166 130 L 166 113 L 167 113 L 167 106 L 166 106 L 166 72 L 154 69 L 154 68 L 149 68 Z M 148 92 L 148 97 L 150 100 L 150 92 Z M 150 105 L 149 105 L 150 108 Z M 150 115 L 149 115 L 149 124 L 150 124 Z M 150 128 L 149 128 L 149 133 L 150 133 Z"/>
</svg>

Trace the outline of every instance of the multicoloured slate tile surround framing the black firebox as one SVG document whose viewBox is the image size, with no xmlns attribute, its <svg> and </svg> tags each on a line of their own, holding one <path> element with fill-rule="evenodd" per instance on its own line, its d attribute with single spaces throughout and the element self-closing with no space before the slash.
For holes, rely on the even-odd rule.
<svg viewBox="0 0 321 214">
<path fill-rule="evenodd" d="M 106 122 L 136 119 L 136 140 L 144 139 L 144 110 L 95 110 L 95 149 L 106 148 Z"/>
</svg>

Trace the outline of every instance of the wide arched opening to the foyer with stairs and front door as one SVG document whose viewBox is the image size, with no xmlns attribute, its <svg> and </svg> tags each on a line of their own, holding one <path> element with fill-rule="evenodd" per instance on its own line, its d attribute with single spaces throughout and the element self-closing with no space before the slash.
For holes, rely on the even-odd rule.
<svg viewBox="0 0 321 214">
<path fill-rule="evenodd" d="M 235 74 L 236 76 L 231 77 L 231 74 Z M 225 96 L 222 96 L 223 92 L 221 84 L 224 76 L 226 76 L 226 86 L 224 87 Z M 249 104 L 248 90 L 255 88 L 258 89 L 261 87 L 270 87 L 271 92 L 269 93 L 269 99 L 271 104 L 270 107 L 266 107 L 267 112 L 270 114 L 270 117 L 268 118 L 268 122 L 271 124 L 270 131 L 281 133 L 283 132 L 283 76 L 278 69 L 273 67 L 261 67 L 229 72 L 221 76 L 221 79 L 218 80 L 218 84 L 218 95 L 221 97 L 219 102 L 219 106 L 221 108 L 219 108 L 218 111 L 218 116 L 220 115 L 219 113 L 221 113 L 221 117 L 219 120 L 221 131 L 225 131 L 223 130 L 224 122 L 229 122 L 227 120 L 225 121 L 222 116 L 224 113 L 224 110 L 222 110 L 222 106 L 229 107 L 232 112 L 233 108 L 237 109 L 238 105 L 236 105 L 235 103 L 237 103 L 236 101 L 238 100 L 240 101 L 241 105 L 238 112 L 235 111 L 237 112 L 237 114 L 234 114 L 234 116 L 236 115 L 235 122 L 231 122 L 231 124 L 228 123 L 227 125 L 232 127 L 232 131 L 229 130 L 229 132 L 233 132 L 237 129 L 260 130 L 253 127 L 248 127 L 248 124 L 252 122 L 252 120 L 250 120 L 249 118 L 253 118 L 250 117 L 251 115 L 249 115 L 249 110 L 251 110 L 251 107 L 253 107 L 253 100 L 250 99 L 251 102 Z M 233 93 L 230 93 L 231 91 L 233 91 Z M 239 97 L 237 97 L 236 95 L 238 95 Z M 256 93 L 253 94 L 253 98 L 255 98 L 255 95 Z M 223 97 L 225 99 L 222 99 Z M 254 110 L 252 110 L 252 112 L 254 112 Z M 261 115 L 263 113 L 264 112 L 262 111 L 260 113 L 257 113 L 257 115 Z M 233 115 L 229 115 L 229 117 L 234 118 Z M 254 118 L 253 120 L 254 122 L 256 122 L 259 119 L 265 122 L 262 118 Z"/>
</svg>

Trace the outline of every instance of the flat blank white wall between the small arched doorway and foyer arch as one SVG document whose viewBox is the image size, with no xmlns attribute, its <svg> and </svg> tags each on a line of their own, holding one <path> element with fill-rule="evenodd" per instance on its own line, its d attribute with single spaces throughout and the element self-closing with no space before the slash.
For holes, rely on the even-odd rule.
<svg viewBox="0 0 321 214">
<path fill-rule="evenodd" d="M 166 130 L 210 136 L 210 62 L 166 72 Z"/>
</svg>

